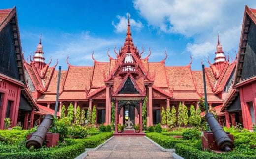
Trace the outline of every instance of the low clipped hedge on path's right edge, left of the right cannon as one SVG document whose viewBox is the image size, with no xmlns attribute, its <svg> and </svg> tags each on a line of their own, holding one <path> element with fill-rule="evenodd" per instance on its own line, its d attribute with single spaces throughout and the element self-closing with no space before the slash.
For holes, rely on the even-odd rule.
<svg viewBox="0 0 256 159">
<path fill-rule="evenodd" d="M 169 137 L 161 133 L 146 133 L 146 136 L 166 149 L 173 149 L 177 143 L 188 143 L 188 141 Z"/>
</svg>

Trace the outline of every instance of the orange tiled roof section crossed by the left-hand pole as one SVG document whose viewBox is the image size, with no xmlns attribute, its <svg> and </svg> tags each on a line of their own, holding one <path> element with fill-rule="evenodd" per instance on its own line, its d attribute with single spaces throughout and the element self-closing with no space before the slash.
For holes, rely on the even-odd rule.
<svg viewBox="0 0 256 159">
<path fill-rule="evenodd" d="M 58 72 L 59 71 L 56 70 L 53 73 L 52 79 L 49 83 L 49 87 L 48 87 L 48 90 L 47 90 L 48 93 L 56 93 L 56 91 L 57 91 Z M 63 89 L 63 83 L 64 83 L 64 80 L 66 78 L 66 73 L 67 73 L 67 71 L 61 71 L 59 92 L 61 92 L 62 89 Z"/>
</svg>

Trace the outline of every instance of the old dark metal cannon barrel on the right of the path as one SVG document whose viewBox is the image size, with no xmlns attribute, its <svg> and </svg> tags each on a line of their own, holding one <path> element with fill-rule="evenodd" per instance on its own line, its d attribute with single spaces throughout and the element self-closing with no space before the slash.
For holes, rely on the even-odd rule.
<svg viewBox="0 0 256 159">
<path fill-rule="evenodd" d="M 222 151 L 230 151 L 234 148 L 234 142 L 228 137 L 222 126 L 215 119 L 212 113 L 206 113 L 205 119 L 208 122 L 217 146 Z"/>
</svg>

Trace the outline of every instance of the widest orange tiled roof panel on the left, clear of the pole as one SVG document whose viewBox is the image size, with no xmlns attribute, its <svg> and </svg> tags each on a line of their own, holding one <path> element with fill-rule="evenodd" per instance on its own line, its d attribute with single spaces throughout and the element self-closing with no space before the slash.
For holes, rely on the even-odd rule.
<svg viewBox="0 0 256 159">
<path fill-rule="evenodd" d="M 64 90 L 85 90 L 85 88 L 90 88 L 92 75 L 93 67 L 70 66 L 68 68 Z"/>
</svg>

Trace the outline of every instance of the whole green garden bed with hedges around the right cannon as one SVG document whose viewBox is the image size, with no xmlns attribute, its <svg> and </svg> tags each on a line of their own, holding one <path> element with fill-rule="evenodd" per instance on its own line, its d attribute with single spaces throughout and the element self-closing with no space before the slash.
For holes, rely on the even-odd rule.
<svg viewBox="0 0 256 159">
<path fill-rule="evenodd" d="M 174 148 L 176 153 L 185 159 L 256 159 L 256 133 L 236 133 L 235 148 L 231 152 L 217 154 L 213 151 L 202 151 L 201 139 L 185 140 L 173 138 L 161 133 L 146 133 L 146 136 L 166 149 Z"/>
</svg>

